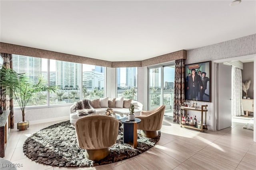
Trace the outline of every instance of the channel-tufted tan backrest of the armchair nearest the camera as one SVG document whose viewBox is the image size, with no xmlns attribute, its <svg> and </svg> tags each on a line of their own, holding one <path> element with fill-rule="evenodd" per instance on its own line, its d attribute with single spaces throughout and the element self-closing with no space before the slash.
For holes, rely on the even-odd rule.
<svg viewBox="0 0 256 170">
<path fill-rule="evenodd" d="M 107 115 L 90 115 L 75 122 L 78 147 L 104 149 L 116 143 L 119 121 Z"/>
</svg>

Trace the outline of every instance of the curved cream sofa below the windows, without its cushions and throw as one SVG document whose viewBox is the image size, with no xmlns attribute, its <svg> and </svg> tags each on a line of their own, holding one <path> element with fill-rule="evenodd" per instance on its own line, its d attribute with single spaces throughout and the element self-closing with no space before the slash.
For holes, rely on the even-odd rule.
<svg viewBox="0 0 256 170">
<path fill-rule="evenodd" d="M 143 109 L 143 104 L 138 102 L 138 101 L 135 101 L 135 100 L 132 100 L 131 104 L 134 104 L 134 107 L 135 107 L 135 115 L 140 115 L 140 111 L 142 111 Z M 106 105 L 104 107 L 101 107 L 101 108 L 94 108 L 95 111 L 96 111 L 96 115 L 101 115 L 101 114 L 104 114 L 106 109 L 108 107 L 106 107 Z M 113 112 L 118 112 L 118 113 L 123 113 L 123 114 L 126 114 L 128 115 L 130 113 L 129 111 L 129 108 L 119 108 L 119 107 L 111 107 L 113 109 Z M 70 107 L 70 123 L 74 124 L 78 119 L 82 118 L 84 116 L 78 116 L 78 114 L 76 113 L 76 104 L 73 104 L 71 107 Z"/>
</svg>

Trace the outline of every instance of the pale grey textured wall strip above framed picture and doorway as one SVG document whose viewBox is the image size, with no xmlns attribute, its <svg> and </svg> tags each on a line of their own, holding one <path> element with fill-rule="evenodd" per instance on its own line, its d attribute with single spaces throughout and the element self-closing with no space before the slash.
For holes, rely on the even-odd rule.
<svg viewBox="0 0 256 170">
<path fill-rule="evenodd" d="M 256 54 L 256 34 L 187 51 L 186 64 Z"/>
</svg>

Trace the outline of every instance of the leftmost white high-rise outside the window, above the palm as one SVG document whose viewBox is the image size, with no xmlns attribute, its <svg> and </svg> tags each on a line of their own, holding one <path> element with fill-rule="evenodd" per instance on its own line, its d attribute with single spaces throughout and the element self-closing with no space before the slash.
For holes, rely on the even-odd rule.
<svg viewBox="0 0 256 170">
<path fill-rule="evenodd" d="M 42 75 L 42 58 L 24 55 L 12 55 L 12 68 L 18 73 L 26 73 L 33 82 Z"/>
</svg>

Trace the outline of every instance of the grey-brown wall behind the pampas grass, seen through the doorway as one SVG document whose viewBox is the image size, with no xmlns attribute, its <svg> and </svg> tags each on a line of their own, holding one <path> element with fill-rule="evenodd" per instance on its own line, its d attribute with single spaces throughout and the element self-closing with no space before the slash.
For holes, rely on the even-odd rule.
<svg viewBox="0 0 256 170">
<path fill-rule="evenodd" d="M 250 63 L 244 63 L 244 69 L 242 70 L 242 82 L 245 82 L 246 80 L 251 80 L 251 85 L 248 89 L 247 92 L 247 97 L 253 99 L 253 76 L 254 76 L 254 72 L 253 72 L 253 62 Z M 245 95 L 245 93 L 243 92 L 243 96 Z"/>
</svg>

